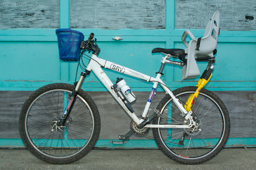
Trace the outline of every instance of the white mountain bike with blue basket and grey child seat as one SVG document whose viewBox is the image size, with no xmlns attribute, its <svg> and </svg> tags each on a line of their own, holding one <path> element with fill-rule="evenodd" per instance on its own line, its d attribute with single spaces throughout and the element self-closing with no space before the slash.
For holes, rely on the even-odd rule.
<svg viewBox="0 0 256 170">
<path fill-rule="evenodd" d="M 214 13 L 206 28 L 205 35 L 197 39 L 189 30 L 184 32 L 182 40 L 187 47 L 185 50 L 153 49 L 152 53 L 164 55 L 156 78 L 98 58 L 100 48 L 95 43 L 93 33 L 88 40 L 83 41 L 84 36 L 78 31 L 57 29 L 62 60 L 79 61 L 79 65 L 85 51 L 92 51 L 93 54 L 79 80 L 75 78 L 74 85 L 46 85 L 27 98 L 19 118 L 19 129 L 25 146 L 39 159 L 58 164 L 77 161 L 94 147 L 101 128 L 100 115 L 94 101 L 81 89 L 85 77 L 93 71 L 132 119 L 131 130 L 125 135 L 119 135 L 120 140 L 128 140 L 131 134 L 146 135 L 149 128 L 153 128 L 158 147 L 174 161 L 197 164 L 212 159 L 224 147 L 230 131 L 229 113 L 224 103 L 213 92 L 203 88 L 214 69 L 219 11 Z M 189 44 L 186 41 L 187 35 L 192 39 Z M 208 37 L 211 37 L 210 41 Z M 204 43 L 200 44 L 200 41 Z M 208 41 L 210 47 L 207 46 Z M 169 60 L 171 57 L 181 62 Z M 196 61 L 208 62 L 208 66 L 195 87 L 181 87 L 171 92 L 160 79 L 165 64 L 183 67 L 183 79 L 194 78 L 200 74 L 197 65 L 193 63 Z M 117 78 L 113 84 L 103 67 L 153 83 L 142 115 L 137 116 L 130 105 L 136 97 L 126 82 Z M 148 115 L 158 85 L 167 95 L 153 114 Z"/>
</svg>

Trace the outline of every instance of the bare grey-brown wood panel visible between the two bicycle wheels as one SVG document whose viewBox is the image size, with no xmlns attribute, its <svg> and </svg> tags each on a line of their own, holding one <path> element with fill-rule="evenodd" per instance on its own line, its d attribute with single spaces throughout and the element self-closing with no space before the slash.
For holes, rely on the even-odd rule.
<svg viewBox="0 0 256 170">
<path fill-rule="evenodd" d="M 126 134 L 130 130 L 131 119 L 121 106 L 114 100 L 109 92 L 88 92 L 95 101 L 101 115 L 101 133 L 99 139 L 118 139 L 118 135 Z M 132 103 L 136 115 L 142 115 L 150 92 L 134 92 L 137 100 Z M 150 114 L 165 96 L 164 92 L 155 95 Z M 148 135 L 153 136 L 152 129 Z M 130 136 L 130 139 L 151 139 L 146 136 Z"/>
</svg>

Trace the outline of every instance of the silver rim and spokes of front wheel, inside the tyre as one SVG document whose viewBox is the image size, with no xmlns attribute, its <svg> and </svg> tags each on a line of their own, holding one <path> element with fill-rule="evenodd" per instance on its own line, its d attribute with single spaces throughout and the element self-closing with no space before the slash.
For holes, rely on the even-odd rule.
<svg viewBox="0 0 256 170">
<path fill-rule="evenodd" d="M 33 147 L 47 157 L 67 158 L 78 154 L 88 145 L 94 132 L 91 108 L 79 95 L 65 125 L 55 125 L 71 93 L 64 89 L 45 92 L 32 102 L 26 113 L 26 135 Z"/>
</svg>

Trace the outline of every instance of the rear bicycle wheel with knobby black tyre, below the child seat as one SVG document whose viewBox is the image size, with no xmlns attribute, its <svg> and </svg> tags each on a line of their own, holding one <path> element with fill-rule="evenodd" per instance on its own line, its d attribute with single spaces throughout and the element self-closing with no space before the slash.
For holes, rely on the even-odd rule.
<svg viewBox="0 0 256 170">
<path fill-rule="evenodd" d="M 174 90 L 179 102 L 186 103 L 197 87 L 182 87 Z M 201 89 L 191 107 L 197 117 L 194 128 L 153 128 L 158 147 L 179 163 L 198 164 L 215 157 L 224 147 L 230 131 L 229 113 L 224 103 L 207 89 Z M 162 116 L 155 117 L 153 124 L 186 125 L 180 110 L 167 95 L 158 104 Z"/>
</svg>

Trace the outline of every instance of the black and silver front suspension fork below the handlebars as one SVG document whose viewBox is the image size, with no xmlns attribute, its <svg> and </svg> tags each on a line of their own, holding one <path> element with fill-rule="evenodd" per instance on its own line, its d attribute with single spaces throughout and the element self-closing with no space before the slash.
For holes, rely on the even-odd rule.
<svg viewBox="0 0 256 170">
<path fill-rule="evenodd" d="M 81 76 L 80 76 L 79 80 L 77 82 L 75 82 L 74 87 L 73 87 L 73 91 L 72 91 L 71 95 L 69 95 L 70 96 L 69 102 L 66 106 L 66 109 L 64 110 L 64 113 L 62 114 L 62 117 L 58 121 L 58 125 L 63 126 L 66 123 L 66 119 L 69 117 L 69 114 L 70 114 L 70 112 L 73 108 L 76 97 L 78 95 L 78 90 L 81 88 L 82 83 L 85 80 L 85 77 L 89 74 L 90 74 L 90 71 L 85 70 L 85 72 L 81 73 Z"/>
</svg>

